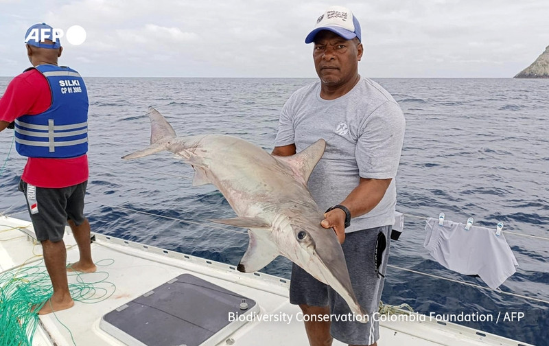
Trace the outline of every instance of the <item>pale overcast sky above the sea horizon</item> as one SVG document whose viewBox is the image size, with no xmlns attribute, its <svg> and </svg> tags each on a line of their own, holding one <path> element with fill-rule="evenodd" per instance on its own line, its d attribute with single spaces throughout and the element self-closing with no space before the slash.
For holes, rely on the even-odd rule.
<svg viewBox="0 0 549 346">
<path fill-rule="evenodd" d="M 547 0 L 0 0 L 0 76 L 45 21 L 84 27 L 60 60 L 83 76 L 316 77 L 304 39 L 329 5 L 359 19 L 373 78 L 508 78 L 549 45 Z"/>
</svg>

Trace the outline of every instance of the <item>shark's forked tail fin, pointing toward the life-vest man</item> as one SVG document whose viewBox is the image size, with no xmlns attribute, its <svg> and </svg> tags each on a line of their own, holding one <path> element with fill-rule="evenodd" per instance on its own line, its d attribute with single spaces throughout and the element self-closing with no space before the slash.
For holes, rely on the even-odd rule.
<svg viewBox="0 0 549 346">
<path fill-rule="evenodd" d="M 166 150 L 166 139 L 176 137 L 176 132 L 172 125 L 167 122 L 166 118 L 163 117 L 156 111 L 156 109 L 149 107 L 149 118 L 150 118 L 150 146 L 143 150 L 138 150 L 137 152 L 132 152 L 127 154 L 122 159 L 137 159 L 139 157 L 145 157 L 155 152 L 161 152 Z"/>
</svg>

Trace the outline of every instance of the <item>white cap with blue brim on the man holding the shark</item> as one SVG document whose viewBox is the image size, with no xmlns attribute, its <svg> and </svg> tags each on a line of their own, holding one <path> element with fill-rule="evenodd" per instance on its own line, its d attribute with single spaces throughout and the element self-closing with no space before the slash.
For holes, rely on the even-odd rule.
<svg viewBox="0 0 549 346">
<path fill-rule="evenodd" d="M 314 36 L 321 30 L 335 32 L 346 40 L 358 37 L 358 41 L 362 42 L 358 19 L 356 19 L 353 12 L 348 8 L 341 6 L 331 6 L 328 8 L 322 16 L 318 17 L 316 26 L 305 38 L 305 43 L 314 42 Z"/>
</svg>

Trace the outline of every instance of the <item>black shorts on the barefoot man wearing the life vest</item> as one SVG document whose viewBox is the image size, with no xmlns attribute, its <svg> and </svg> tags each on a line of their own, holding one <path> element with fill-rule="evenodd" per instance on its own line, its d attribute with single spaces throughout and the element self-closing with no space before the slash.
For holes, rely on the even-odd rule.
<svg viewBox="0 0 549 346">
<path fill-rule="evenodd" d="M 25 194 L 36 239 L 59 242 L 63 239 L 67 220 L 78 226 L 84 222 L 84 195 L 88 181 L 59 189 L 36 187 L 19 182 Z"/>
</svg>

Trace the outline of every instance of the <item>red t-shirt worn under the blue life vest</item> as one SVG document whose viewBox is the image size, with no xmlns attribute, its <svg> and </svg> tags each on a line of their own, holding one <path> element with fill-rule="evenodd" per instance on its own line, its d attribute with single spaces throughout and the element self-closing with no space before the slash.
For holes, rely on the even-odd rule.
<svg viewBox="0 0 549 346">
<path fill-rule="evenodd" d="M 51 106 L 51 91 L 42 73 L 36 69 L 16 76 L 0 98 L 0 120 L 13 122 L 22 115 L 36 115 Z M 38 187 L 67 187 L 88 179 L 86 154 L 71 159 L 29 157 L 23 181 Z"/>
</svg>

